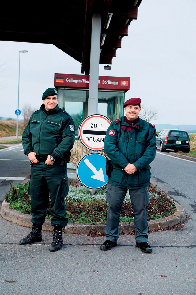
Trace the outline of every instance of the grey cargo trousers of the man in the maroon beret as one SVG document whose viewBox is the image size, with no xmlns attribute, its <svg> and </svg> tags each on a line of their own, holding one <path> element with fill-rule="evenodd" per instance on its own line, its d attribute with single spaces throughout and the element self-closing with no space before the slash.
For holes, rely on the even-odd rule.
<svg viewBox="0 0 196 295">
<path fill-rule="evenodd" d="M 121 207 L 127 193 L 127 188 L 115 187 L 107 184 L 106 201 L 109 203 L 107 222 L 106 222 L 106 237 L 107 240 L 116 242 L 119 238 L 119 218 Z M 146 206 L 149 203 L 148 188 L 129 189 L 131 205 L 134 209 L 134 226 L 136 242 L 148 241 L 148 223 L 146 216 Z"/>
</svg>

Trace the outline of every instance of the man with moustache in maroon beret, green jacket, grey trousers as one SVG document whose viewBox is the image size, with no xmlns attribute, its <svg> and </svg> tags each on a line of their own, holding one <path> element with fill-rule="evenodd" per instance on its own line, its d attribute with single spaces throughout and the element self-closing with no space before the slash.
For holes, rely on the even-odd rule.
<svg viewBox="0 0 196 295">
<path fill-rule="evenodd" d="M 152 252 L 148 242 L 146 206 L 149 203 L 150 166 L 156 154 L 156 132 L 153 124 L 139 118 L 140 98 L 127 100 L 126 116 L 116 119 L 107 130 L 104 152 L 113 166 L 108 179 L 106 198 L 109 203 L 106 237 L 101 250 L 117 246 L 119 218 L 123 200 L 129 190 L 134 209 L 136 247 Z"/>
</svg>

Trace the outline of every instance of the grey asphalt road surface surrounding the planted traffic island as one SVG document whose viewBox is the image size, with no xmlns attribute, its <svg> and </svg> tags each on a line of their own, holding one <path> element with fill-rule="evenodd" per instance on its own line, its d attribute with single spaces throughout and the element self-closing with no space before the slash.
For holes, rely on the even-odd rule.
<svg viewBox="0 0 196 295">
<path fill-rule="evenodd" d="M 27 158 L 20 149 L 21 145 L 0 151 L 0 177 L 30 174 L 28 161 L 24 161 Z M 6 161 L 9 158 L 11 161 Z M 84 234 L 64 234 L 62 249 L 54 253 L 48 251 L 52 234 L 47 232 L 43 232 L 40 243 L 19 245 L 29 228 L 0 217 L 0 294 L 195 294 L 195 165 L 156 153 L 151 164 L 152 182 L 174 197 L 190 219 L 179 230 L 150 233 L 152 254 L 142 253 L 135 247 L 134 235 L 121 235 L 118 246 L 110 251 L 99 249 L 105 237 Z M 1 199 L 6 181 L 9 182 L 1 179 Z"/>
</svg>

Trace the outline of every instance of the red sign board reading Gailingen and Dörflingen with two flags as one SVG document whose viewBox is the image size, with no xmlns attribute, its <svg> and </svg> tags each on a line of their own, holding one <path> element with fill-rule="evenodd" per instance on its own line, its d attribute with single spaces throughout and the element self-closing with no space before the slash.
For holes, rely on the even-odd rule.
<svg viewBox="0 0 196 295">
<path fill-rule="evenodd" d="M 89 75 L 55 74 L 55 87 L 89 88 Z M 129 77 L 99 76 L 99 89 L 129 90 Z"/>
</svg>

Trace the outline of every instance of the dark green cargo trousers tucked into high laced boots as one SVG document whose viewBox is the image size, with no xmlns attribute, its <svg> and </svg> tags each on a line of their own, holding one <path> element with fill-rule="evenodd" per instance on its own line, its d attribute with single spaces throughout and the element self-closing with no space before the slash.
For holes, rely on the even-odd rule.
<svg viewBox="0 0 196 295">
<path fill-rule="evenodd" d="M 31 221 L 43 224 L 46 210 L 51 200 L 51 225 L 66 226 L 68 218 L 65 217 L 64 197 L 68 194 L 67 165 L 47 166 L 44 162 L 33 163 L 31 166 L 31 178 L 29 194 L 31 195 Z"/>
</svg>

